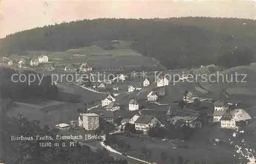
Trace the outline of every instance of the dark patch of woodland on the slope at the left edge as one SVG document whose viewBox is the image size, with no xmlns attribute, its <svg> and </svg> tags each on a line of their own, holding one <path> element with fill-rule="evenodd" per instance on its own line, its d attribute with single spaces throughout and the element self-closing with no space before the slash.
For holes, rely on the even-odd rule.
<svg viewBox="0 0 256 164">
<path fill-rule="evenodd" d="M 29 77 L 33 82 L 29 83 Z M 55 99 L 58 95 L 58 88 L 52 84 L 51 76 L 37 74 L 30 70 L 18 72 L 4 67 L 0 67 L 0 91 L 1 99 L 13 100 L 32 97 Z"/>
</svg>

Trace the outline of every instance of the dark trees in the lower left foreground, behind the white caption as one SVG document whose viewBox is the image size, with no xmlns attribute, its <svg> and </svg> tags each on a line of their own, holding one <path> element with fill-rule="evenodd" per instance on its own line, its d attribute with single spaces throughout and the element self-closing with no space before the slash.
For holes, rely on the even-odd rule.
<svg viewBox="0 0 256 164">
<path fill-rule="evenodd" d="M 2 141 L 4 155 L 3 159 L 6 163 L 52 163 L 52 164 L 68 164 L 68 163 L 119 163 L 125 164 L 127 161 L 117 159 L 110 156 L 109 152 L 104 149 L 98 149 L 93 152 L 90 147 L 74 144 L 70 146 L 72 140 L 56 140 L 56 134 L 60 134 L 58 129 L 50 129 L 47 125 L 40 127 L 39 121 L 28 121 L 20 116 L 16 118 L 8 118 L 5 122 L 5 133 Z M 36 136 L 48 136 L 48 140 L 36 140 Z M 27 140 L 12 141 L 11 136 L 23 136 Z M 28 140 L 32 138 L 34 140 Z M 53 140 L 49 140 L 49 138 Z M 42 143 L 52 146 L 42 147 Z M 56 146 L 56 143 L 59 146 Z M 67 146 L 62 146 L 65 143 Z M 55 146 L 54 146 L 55 144 Z"/>
</svg>

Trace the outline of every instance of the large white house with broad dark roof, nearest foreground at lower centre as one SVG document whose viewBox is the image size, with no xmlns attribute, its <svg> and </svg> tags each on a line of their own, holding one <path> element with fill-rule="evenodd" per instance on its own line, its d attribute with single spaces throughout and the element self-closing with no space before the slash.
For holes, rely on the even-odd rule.
<svg viewBox="0 0 256 164">
<path fill-rule="evenodd" d="M 161 122 L 153 115 L 140 115 L 135 121 L 135 129 L 146 132 L 151 127 L 161 125 Z"/>
</svg>

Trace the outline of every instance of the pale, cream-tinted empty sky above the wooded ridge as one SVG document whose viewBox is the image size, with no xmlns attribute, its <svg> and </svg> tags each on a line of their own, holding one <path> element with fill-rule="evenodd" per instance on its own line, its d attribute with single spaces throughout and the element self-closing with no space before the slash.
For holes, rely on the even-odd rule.
<svg viewBox="0 0 256 164">
<path fill-rule="evenodd" d="M 254 0 L 255 1 L 255 0 Z M 167 18 L 184 16 L 255 19 L 251 0 L 0 0 L 0 38 L 48 24 L 94 18 Z"/>
</svg>

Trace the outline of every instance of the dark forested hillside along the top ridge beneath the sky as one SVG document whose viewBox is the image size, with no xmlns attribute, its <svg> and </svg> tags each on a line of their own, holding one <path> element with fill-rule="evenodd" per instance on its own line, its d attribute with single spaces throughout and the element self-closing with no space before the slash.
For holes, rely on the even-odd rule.
<svg viewBox="0 0 256 164">
<path fill-rule="evenodd" d="M 249 23 L 248 28 L 244 21 Z M 158 59 L 168 69 L 225 65 L 230 57 L 236 63 L 232 66 L 237 66 L 241 65 L 239 59 L 244 53 L 255 53 L 253 23 L 253 20 L 203 17 L 82 20 L 9 35 L 2 40 L 1 52 L 6 56 L 25 55 L 28 50 L 63 51 L 99 40 L 129 40 L 136 41 L 132 49 Z M 241 57 L 233 59 L 230 55 L 234 51 Z M 224 58 L 225 62 L 220 58 L 223 55 L 229 57 Z M 252 56 L 244 58 L 243 64 L 249 64 L 251 59 Z"/>
</svg>

